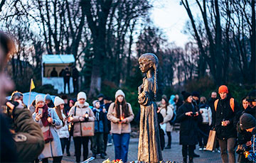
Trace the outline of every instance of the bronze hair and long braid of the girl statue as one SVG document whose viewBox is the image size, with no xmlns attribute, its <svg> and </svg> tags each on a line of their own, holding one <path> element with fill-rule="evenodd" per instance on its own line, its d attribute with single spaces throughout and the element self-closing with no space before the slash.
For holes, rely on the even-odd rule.
<svg viewBox="0 0 256 163">
<path fill-rule="evenodd" d="M 149 60 L 150 62 L 152 62 L 153 65 L 153 69 L 154 69 L 154 100 L 156 100 L 156 92 L 158 89 L 157 86 L 157 70 L 158 70 L 158 64 L 159 64 L 159 60 L 156 57 L 156 55 L 154 55 L 153 53 L 145 53 L 143 54 L 141 57 L 139 57 L 139 59 L 146 59 Z"/>
</svg>

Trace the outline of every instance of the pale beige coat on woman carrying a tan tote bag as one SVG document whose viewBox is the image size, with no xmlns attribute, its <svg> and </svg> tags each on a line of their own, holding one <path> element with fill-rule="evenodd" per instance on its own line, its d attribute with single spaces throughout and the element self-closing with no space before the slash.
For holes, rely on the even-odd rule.
<svg viewBox="0 0 256 163">
<path fill-rule="evenodd" d="M 76 108 L 76 113 L 75 113 L 75 107 Z M 73 133 L 73 137 L 82 137 L 82 133 L 81 133 L 81 125 L 80 125 L 80 117 L 84 117 L 85 113 L 89 114 L 89 121 L 90 122 L 94 122 L 95 121 L 95 116 L 94 113 L 92 112 L 92 109 L 89 107 L 89 103 L 85 102 L 85 105 L 80 107 L 78 105 L 78 102 L 75 103 L 75 106 L 73 106 L 70 109 L 70 113 L 68 113 L 69 115 L 73 115 L 73 123 L 74 123 L 74 133 Z M 75 116 L 74 116 L 75 115 Z"/>
</svg>

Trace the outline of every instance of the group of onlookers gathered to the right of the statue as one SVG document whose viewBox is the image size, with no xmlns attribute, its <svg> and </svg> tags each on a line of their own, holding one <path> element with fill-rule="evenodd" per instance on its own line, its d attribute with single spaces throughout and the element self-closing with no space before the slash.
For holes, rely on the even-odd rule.
<svg viewBox="0 0 256 163">
<path fill-rule="evenodd" d="M 199 145 L 200 151 L 206 150 L 210 130 L 215 130 L 217 137 L 213 152 L 220 152 L 223 162 L 235 162 L 237 145 L 238 162 L 256 162 L 254 150 L 246 154 L 255 148 L 256 130 L 252 128 L 255 128 L 256 90 L 245 96 L 241 103 L 235 101 L 225 85 L 218 88 L 219 99 L 215 91 L 211 93 L 208 101 L 197 91 L 193 91 L 192 94 L 183 91 L 181 94 L 183 103 L 179 102 L 177 95 L 171 95 L 169 101 L 166 96 L 162 96 L 159 103 L 157 113 L 161 128 L 162 150 L 164 150 L 165 133 L 168 137 L 165 149 L 171 148 L 171 130 L 174 120 L 175 123 L 180 124 L 179 144 L 182 145 L 183 162 L 193 162 L 194 157 L 200 157 L 194 152 L 196 145 Z M 247 114 L 251 115 L 251 123 L 241 120 Z M 247 118 L 248 115 L 245 117 Z"/>
</svg>

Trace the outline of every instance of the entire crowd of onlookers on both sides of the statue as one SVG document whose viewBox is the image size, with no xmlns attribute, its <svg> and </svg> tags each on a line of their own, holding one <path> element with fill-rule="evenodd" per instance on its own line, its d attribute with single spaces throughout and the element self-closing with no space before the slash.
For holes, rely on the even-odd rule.
<svg viewBox="0 0 256 163">
<path fill-rule="evenodd" d="M 0 32 L 0 38 L 0 104 L 4 106 L 0 113 L 0 162 L 48 162 L 48 158 L 61 162 L 65 151 L 70 156 L 71 137 L 75 162 L 81 161 L 81 147 L 82 160 L 88 158 L 89 141 L 92 157 L 100 154 L 105 159 L 111 140 L 115 159 L 128 161 L 134 113 L 121 89 L 116 92 L 114 102 L 99 94 L 92 106 L 83 91 L 77 94 L 77 99 L 55 96 L 54 102 L 49 94 L 38 95 L 29 107 L 23 103 L 23 94 L 14 91 L 6 102 L 6 93 L 14 89 L 14 84 L 6 77 L 4 67 L 14 43 L 5 33 Z M 197 144 L 199 150 L 206 150 L 210 130 L 215 130 L 218 143 L 214 151 L 220 150 L 223 162 L 235 162 L 237 146 L 238 162 L 256 162 L 256 90 L 240 103 L 225 85 L 218 88 L 220 98 L 212 92 L 208 101 L 197 91 L 181 94 L 183 101 L 178 95 L 171 95 L 169 100 L 162 96 L 158 104 L 161 150 L 171 149 L 171 131 L 178 123 L 183 162 L 193 162 L 193 157 L 199 157 L 194 152 Z M 88 124 L 93 125 L 87 127 Z M 164 135 L 168 137 L 167 145 Z"/>
</svg>

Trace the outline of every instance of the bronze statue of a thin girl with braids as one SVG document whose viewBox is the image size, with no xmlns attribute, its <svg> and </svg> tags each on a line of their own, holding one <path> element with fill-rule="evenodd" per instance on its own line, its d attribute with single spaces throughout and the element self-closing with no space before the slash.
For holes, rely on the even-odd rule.
<svg viewBox="0 0 256 163">
<path fill-rule="evenodd" d="M 139 162 L 161 161 L 159 128 L 156 116 L 157 68 L 159 60 L 156 55 L 146 53 L 139 57 L 139 69 L 146 73 L 143 84 L 139 86 L 139 104 L 141 108 L 139 122 Z"/>
</svg>

